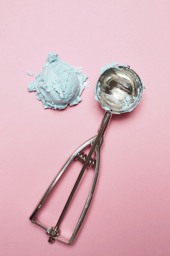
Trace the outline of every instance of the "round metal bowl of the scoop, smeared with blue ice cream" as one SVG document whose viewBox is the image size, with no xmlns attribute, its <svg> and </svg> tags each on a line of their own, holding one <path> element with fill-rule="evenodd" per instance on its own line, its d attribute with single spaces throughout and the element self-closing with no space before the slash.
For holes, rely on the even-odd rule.
<svg viewBox="0 0 170 256">
<path fill-rule="evenodd" d="M 129 67 L 109 68 L 100 77 L 96 95 L 103 108 L 120 114 L 131 111 L 139 103 L 143 85 L 138 74 Z"/>
</svg>

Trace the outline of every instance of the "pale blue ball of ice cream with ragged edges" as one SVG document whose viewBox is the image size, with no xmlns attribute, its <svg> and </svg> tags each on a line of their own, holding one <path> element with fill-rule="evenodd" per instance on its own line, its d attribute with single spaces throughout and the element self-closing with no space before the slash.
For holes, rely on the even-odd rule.
<svg viewBox="0 0 170 256">
<path fill-rule="evenodd" d="M 74 68 L 60 61 L 57 52 L 48 53 L 47 62 L 36 80 L 27 86 L 29 92 L 36 91 L 36 97 L 43 102 L 44 108 L 65 109 L 81 101 L 80 95 L 89 83 L 82 75 L 81 68 Z"/>
</svg>

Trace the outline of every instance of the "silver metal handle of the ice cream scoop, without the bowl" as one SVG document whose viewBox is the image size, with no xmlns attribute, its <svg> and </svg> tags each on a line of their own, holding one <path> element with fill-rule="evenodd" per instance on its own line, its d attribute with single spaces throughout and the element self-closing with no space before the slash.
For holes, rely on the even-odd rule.
<svg viewBox="0 0 170 256">
<path fill-rule="evenodd" d="M 40 202 L 36 206 L 36 209 L 34 210 L 34 212 L 32 212 L 32 214 L 31 214 L 31 216 L 29 218 L 32 223 L 35 223 L 39 227 L 41 227 L 41 228 L 46 230 L 46 234 L 48 234 L 48 236 L 50 236 L 50 239 L 48 240 L 50 243 L 53 243 L 53 241 L 55 239 L 57 239 L 58 241 L 61 241 L 63 243 L 72 244 L 74 239 L 75 239 L 75 237 L 76 237 L 76 235 L 78 234 L 78 230 L 80 230 L 81 224 L 82 224 L 82 222 L 83 222 L 83 220 L 85 218 L 85 215 L 87 214 L 87 211 L 89 209 L 89 205 L 90 205 L 90 202 L 92 200 L 94 189 L 96 187 L 97 176 L 98 176 L 98 173 L 99 173 L 99 164 L 100 164 L 100 150 L 101 150 L 101 145 L 103 144 L 103 134 L 106 131 L 106 127 L 107 127 L 107 125 L 108 125 L 108 123 L 110 121 L 110 118 L 111 118 L 111 113 L 106 112 L 105 115 L 104 115 L 103 121 L 101 123 L 101 127 L 99 128 L 97 136 L 94 136 L 90 140 L 88 140 L 85 143 L 83 143 L 83 145 L 81 145 L 69 157 L 67 162 L 64 164 L 64 166 L 60 170 L 60 172 L 57 174 L 55 179 L 52 181 L 52 184 L 50 184 L 49 188 L 46 190 L 45 195 L 43 195 L 43 198 L 41 198 Z M 57 184 L 57 181 L 60 179 L 61 175 L 67 169 L 67 166 L 69 166 L 69 164 L 71 163 L 71 161 L 73 161 L 73 159 L 77 156 L 77 154 L 80 153 L 81 150 L 83 150 L 83 148 L 87 147 L 88 145 L 91 145 L 92 148 L 91 148 L 91 150 L 89 152 L 89 155 L 87 156 L 87 159 L 85 161 L 85 164 L 83 165 L 83 168 L 81 169 L 80 175 L 78 176 L 78 179 L 76 180 L 76 183 L 74 184 L 74 187 L 73 187 L 73 189 L 71 191 L 71 194 L 69 195 L 69 198 L 68 198 L 68 200 L 66 202 L 66 205 L 65 205 L 62 213 L 60 214 L 60 218 L 57 221 L 57 225 L 55 226 L 55 228 L 53 228 L 53 227 L 52 228 L 44 227 L 44 225 L 41 225 L 39 223 L 39 220 L 36 218 L 36 214 L 38 213 L 39 209 L 41 208 L 41 206 L 45 202 L 45 200 L 48 197 L 48 195 L 50 194 L 50 191 L 52 191 L 53 187 Z M 77 186 L 78 186 L 78 184 L 79 184 L 79 182 L 81 180 L 81 177 L 82 177 L 82 175 L 83 175 L 83 173 L 85 171 L 85 168 L 87 167 L 87 164 L 89 163 L 90 157 L 92 156 L 92 153 L 94 152 L 94 150 L 96 152 L 96 170 L 95 170 L 95 173 L 94 173 L 94 179 L 93 179 L 93 182 L 92 182 L 92 187 L 90 189 L 90 193 L 89 193 L 89 196 L 87 198 L 87 202 L 85 203 L 83 211 L 81 212 L 81 216 L 80 216 L 80 219 L 78 220 L 76 228 L 74 229 L 74 232 L 73 232 L 71 238 L 68 240 L 68 239 L 60 236 L 60 234 L 59 234 L 60 230 L 57 230 L 57 228 L 59 228 L 60 222 L 62 221 L 62 218 L 64 217 L 64 214 L 66 213 L 67 207 L 69 206 L 69 203 L 71 202 L 71 199 L 73 198 L 74 192 L 76 191 L 76 188 L 77 188 Z"/>
</svg>

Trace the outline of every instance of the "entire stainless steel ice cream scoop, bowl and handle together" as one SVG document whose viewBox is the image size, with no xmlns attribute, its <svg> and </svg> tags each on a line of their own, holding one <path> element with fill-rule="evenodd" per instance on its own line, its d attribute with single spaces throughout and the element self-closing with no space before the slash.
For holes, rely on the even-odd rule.
<svg viewBox="0 0 170 256">
<path fill-rule="evenodd" d="M 101 106 L 108 111 L 106 111 L 106 113 L 104 114 L 104 118 L 103 118 L 103 121 L 101 122 L 101 126 L 99 128 L 97 136 L 94 136 L 90 140 L 86 141 L 83 145 L 80 146 L 80 148 L 78 148 L 72 154 L 71 157 L 69 157 L 66 164 L 64 164 L 60 172 L 57 174 L 52 184 L 47 189 L 45 195 L 40 200 L 38 206 L 36 207 L 36 209 L 34 210 L 34 212 L 30 217 L 30 220 L 32 221 L 32 223 L 35 223 L 39 227 L 46 230 L 46 234 L 50 236 L 50 238 L 48 239 L 49 243 L 53 243 L 55 239 L 58 241 L 62 241 L 63 243 L 66 243 L 66 244 L 73 243 L 76 235 L 78 234 L 78 231 L 80 230 L 80 227 L 85 218 L 85 215 L 87 214 L 90 202 L 92 200 L 92 196 L 94 194 L 94 189 L 97 182 L 97 176 L 99 173 L 100 150 L 101 150 L 101 145 L 103 144 L 103 135 L 104 135 L 104 132 L 106 131 L 106 127 L 108 123 L 110 122 L 111 115 L 112 113 L 120 114 L 127 111 L 131 111 L 139 103 L 142 92 L 143 92 L 143 84 L 141 83 L 139 76 L 133 70 L 131 70 L 130 67 L 119 66 L 118 68 L 109 68 L 99 77 L 99 80 L 96 86 L 96 95 L 98 97 L 99 102 L 101 103 Z M 84 154 L 81 151 L 88 145 L 91 145 L 91 149 L 87 156 L 87 154 Z M 96 160 L 92 158 L 92 154 L 94 151 L 96 152 Z M 64 209 L 60 214 L 57 224 L 55 225 L 55 227 L 46 228 L 43 225 L 41 225 L 38 220 L 36 220 L 36 214 L 38 213 L 39 209 L 45 202 L 50 191 L 52 191 L 53 187 L 55 186 L 55 184 L 57 184 L 57 181 L 60 179 L 61 175 L 66 171 L 67 166 L 71 163 L 71 161 L 73 161 L 73 159 L 78 159 L 79 161 L 84 163 L 83 167 L 81 168 L 81 172 L 78 175 L 78 178 L 73 186 L 73 189 L 69 195 L 69 198 L 67 199 Z M 94 180 L 92 182 L 92 187 L 90 189 L 87 202 L 85 203 L 83 211 L 81 212 L 80 218 L 74 229 L 74 232 L 71 238 L 68 240 L 60 236 L 60 233 L 62 234 L 62 230 L 61 231 L 59 230 L 60 223 L 64 218 L 64 215 L 66 214 L 67 208 L 71 203 L 71 200 L 74 196 L 76 188 L 78 187 L 78 184 L 80 183 L 81 177 L 85 172 L 85 169 L 87 168 L 88 165 L 90 166 L 90 164 L 94 166 L 95 161 L 96 161 L 96 168 L 94 173 Z"/>
</svg>

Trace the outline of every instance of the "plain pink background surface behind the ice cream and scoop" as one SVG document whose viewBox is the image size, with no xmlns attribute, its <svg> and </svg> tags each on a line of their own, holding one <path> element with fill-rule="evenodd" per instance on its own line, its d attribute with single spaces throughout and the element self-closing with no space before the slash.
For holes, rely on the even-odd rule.
<svg viewBox="0 0 170 256">
<path fill-rule="evenodd" d="M 1 3 L 1 255 L 170 255 L 169 3 Z M 27 92 L 49 51 L 89 76 L 78 106 L 45 110 L 35 93 Z M 111 119 L 94 198 L 76 241 L 50 244 L 29 216 L 67 157 L 96 135 L 104 110 L 94 100 L 94 88 L 100 68 L 113 61 L 130 65 L 146 90 L 132 113 Z M 81 164 L 75 165 L 79 172 Z M 90 179 L 94 171 L 87 172 Z M 52 195 L 48 215 L 41 214 L 48 225 L 55 225 L 70 191 L 69 175 L 59 201 Z M 78 191 L 83 199 L 85 189 Z M 74 226 L 71 217 L 78 215 L 73 205 L 81 201 L 73 200 L 62 225 L 66 236 Z"/>
</svg>

